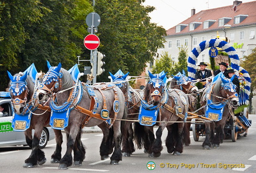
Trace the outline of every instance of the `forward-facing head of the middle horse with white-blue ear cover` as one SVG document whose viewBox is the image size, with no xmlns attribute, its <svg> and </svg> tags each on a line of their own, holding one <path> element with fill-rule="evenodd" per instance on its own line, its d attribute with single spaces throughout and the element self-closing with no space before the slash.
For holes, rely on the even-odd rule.
<svg viewBox="0 0 256 173">
<path fill-rule="evenodd" d="M 158 105 L 164 94 L 165 83 L 163 80 L 165 79 L 166 73 L 159 73 L 161 75 L 152 74 L 150 71 L 148 73 L 151 79 L 146 84 L 144 99 L 147 102 L 152 102 L 153 105 Z"/>
</svg>

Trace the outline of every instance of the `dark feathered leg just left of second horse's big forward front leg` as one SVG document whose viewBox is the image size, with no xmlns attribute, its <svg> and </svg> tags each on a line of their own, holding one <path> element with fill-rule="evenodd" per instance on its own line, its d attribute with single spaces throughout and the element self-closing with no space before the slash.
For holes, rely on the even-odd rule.
<svg viewBox="0 0 256 173">
<path fill-rule="evenodd" d="M 56 148 L 55 152 L 51 156 L 51 163 L 56 164 L 59 163 L 61 159 L 61 151 L 62 151 L 62 142 L 63 142 L 63 136 L 61 130 L 53 129 L 53 132 L 55 132 L 55 141 L 56 141 Z"/>
</svg>

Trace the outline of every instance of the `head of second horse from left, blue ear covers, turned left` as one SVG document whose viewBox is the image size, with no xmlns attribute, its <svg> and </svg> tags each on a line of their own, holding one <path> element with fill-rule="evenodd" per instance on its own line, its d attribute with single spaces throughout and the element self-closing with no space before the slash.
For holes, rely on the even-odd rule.
<svg viewBox="0 0 256 173">
<path fill-rule="evenodd" d="M 39 102 L 46 101 L 53 93 L 60 91 L 62 87 L 62 65 L 59 63 L 58 66 L 52 67 L 47 61 L 47 67 L 49 70 L 43 77 L 43 82 L 40 84 L 39 89 L 36 93 L 36 98 Z"/>
</svg>

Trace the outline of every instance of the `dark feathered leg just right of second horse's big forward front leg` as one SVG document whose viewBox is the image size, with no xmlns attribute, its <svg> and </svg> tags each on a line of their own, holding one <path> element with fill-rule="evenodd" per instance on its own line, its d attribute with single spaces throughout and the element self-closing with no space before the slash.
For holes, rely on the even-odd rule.
<svg viewBox="0 0 256 173">
<path fill-rule="evenodd" d="M 79 129 L 78 135 L 76 136 L 75 145 L 73 148 L 73 165 L 78 167 L 82 165 L 82 161 L 85 159 L 85 148 L 81 141 L 82 128 Z"/>
</svg>

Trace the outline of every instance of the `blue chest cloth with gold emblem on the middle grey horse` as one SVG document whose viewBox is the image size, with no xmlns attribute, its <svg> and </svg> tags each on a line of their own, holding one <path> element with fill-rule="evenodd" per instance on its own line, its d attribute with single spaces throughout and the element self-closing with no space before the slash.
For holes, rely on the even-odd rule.
<svg viewBox="0 0 256 173">
<path fill-rule="evenodd" d="M 147 110 L 142 105 L 140 105 L 139 110 L 139 123 L 143 126 L 153 126 L 156 123 L 159 109 Z"/>
</svg>

